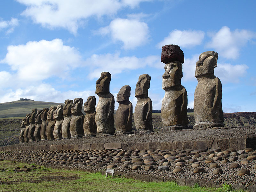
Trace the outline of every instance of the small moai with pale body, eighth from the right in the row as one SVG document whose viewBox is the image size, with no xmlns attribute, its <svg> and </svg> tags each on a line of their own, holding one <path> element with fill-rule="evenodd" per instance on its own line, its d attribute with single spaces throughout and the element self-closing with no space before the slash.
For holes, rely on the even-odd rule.
<svg viewBox="0 0 256 192">
<path fill-rule="evenodd" d="M 70 121 L 72 118 L 72 115 L 71 115 L 72 105 L 73 105 L 73 100 L 70 100 L 70 99 L 65 100 L 65 105 L 63 107 L 64 120 L 61 126 L 62 139 L 69 139 L 71 137 L 69 127 L 70 127 Z"/>
</svg>

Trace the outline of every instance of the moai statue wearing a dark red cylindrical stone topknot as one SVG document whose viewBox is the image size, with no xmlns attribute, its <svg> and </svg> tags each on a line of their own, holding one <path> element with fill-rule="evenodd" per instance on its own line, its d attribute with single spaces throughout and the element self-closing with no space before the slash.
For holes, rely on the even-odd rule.
<svg viewBox="0 0 256 192">
<path fill-rule="evenodd" d="M 165 63 L 162 87 L 165 94 L 161 109 L 164 130 L 188 129 L 188 94 L 180 82 L 183 76 L 183 51 L 178 45 L 165 45 L 162 47 L 161 61 Z"/>
</svg>

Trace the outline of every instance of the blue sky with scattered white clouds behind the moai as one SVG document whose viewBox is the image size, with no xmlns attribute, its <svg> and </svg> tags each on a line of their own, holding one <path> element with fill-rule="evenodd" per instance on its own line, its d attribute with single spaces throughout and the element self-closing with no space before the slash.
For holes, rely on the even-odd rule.
<svg viewBox="0 0 256 192">
<path fill-rule="evenodd" d="M 71 3 L 72 2 L 72 3 Z M 184 52 L 182 85 L 193 108 L 200 53 L 218 52 L 224 112 L 256 111 L 256 1 L 0 1 L 0 102 L 28 98 L 63 103 L 95 95 L 102 71 L 115 96 L 151 76 L 153 109 L 164 97 L 161 47 Z M 115 104 L 117 109 L 118 103 Z"/>
</svg>

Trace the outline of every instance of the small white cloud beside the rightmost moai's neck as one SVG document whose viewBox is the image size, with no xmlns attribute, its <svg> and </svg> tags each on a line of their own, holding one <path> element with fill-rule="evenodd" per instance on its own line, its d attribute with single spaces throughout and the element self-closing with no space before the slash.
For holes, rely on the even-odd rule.
<svg viewBox="0 0 256 192">
<path fill-rule="evenodd" d="M 243 77 L 246 74 L 246 70 L 249 67 L 245 64 L 231 65 L 230 63 L 218 63 L 215 68 L 215 76 L 217 76 L 222 83 L 238 83 L 239 77 Z"/>
</svg>

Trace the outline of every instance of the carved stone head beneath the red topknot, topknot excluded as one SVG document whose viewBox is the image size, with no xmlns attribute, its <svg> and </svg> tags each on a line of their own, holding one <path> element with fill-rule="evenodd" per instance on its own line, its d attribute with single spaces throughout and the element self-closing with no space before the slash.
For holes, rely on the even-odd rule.
<svg viewBox="0 0 256 192">
<path fill-rule="evenodd" d="M 180 85 L 182 78 L 182 64 L 178 61 L 168 63 L 164 66 L 163 89 L 166 90 L 176 85 Z"/>
</svg>

